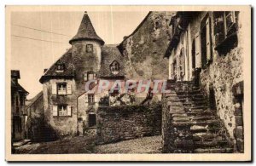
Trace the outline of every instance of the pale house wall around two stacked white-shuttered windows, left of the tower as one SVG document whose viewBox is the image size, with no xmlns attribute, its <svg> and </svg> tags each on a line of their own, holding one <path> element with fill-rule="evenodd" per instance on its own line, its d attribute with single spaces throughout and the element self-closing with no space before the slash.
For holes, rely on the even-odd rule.
<svg viewBox="0 0 256 166">
<path fill-rule="evenodd" d="M 53 95 L 53 83 L 71 83 L 72 94 L 69 95 Z M 53 129 L 56 135 L 76 135 L 77 134 L 77 97 L 76 86 L 74 80 L 70 79 L 51 79 L 44 83 L 44 120 L 46 126 Z M 67 104 L 71 106 L 71 117 L 53 117 L 53 106 L 58 104 Z M 49 134 L 50 135 L 50 134 Z"/>
</svg>

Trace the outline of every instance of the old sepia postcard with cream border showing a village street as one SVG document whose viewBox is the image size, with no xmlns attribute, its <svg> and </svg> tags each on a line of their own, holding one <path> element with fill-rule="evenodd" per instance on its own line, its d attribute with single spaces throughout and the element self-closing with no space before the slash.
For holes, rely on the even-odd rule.
<svg viewBox="0 0 256 166">
<path fill-rule="evenodd" d="M 7 161 L 250 161 L 250 6 L 6 6 Z"/>
</svg>

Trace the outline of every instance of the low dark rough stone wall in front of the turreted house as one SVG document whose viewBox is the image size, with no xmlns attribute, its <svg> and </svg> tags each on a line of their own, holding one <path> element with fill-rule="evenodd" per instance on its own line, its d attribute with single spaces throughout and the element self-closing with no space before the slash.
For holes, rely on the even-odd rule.
<svg viewBox="0 0 256 166">
<path fill-rule="evenodd" d="M 161 133 L 161 106 L 99 107 L 97 144 Z"/>
</svg>

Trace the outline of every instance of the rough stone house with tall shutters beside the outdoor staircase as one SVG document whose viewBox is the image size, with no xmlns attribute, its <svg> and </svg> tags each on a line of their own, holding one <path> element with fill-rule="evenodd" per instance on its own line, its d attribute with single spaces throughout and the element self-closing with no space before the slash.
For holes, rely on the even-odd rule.
<svg viewBox="0 0 256 166">
<path fill-rule="evenodd" d="M 169 79 L 194 82 L 238 149 L 243 145 L 243 50 L 240 13 L 177 12 L 170 22 Z M 174 83 L 173 82 L 173 83 Z M 242 150 L 241 150 L 242 151 Z"/>
</svg>

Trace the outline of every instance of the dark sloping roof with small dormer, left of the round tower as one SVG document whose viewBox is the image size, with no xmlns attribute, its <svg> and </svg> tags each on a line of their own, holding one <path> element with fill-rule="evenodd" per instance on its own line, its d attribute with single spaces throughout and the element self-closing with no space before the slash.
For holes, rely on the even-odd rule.
<svg viewBox="0 0 256 166">
<path fill-rule="evenodd" d="M 63 72 L 56 72 L 56 67 L 59 64 L 64 65 Z M 49 67 L 49 69 L 40 78 L 39 82 L 44 83 L 44 81 L 47 81 L 50 78 L 73 78 L 74 74 L 75 70 L 72 63 L 72 49 L 68 49 L 59 60 L 55 61 L 55 63 Z"/>
</svg>

